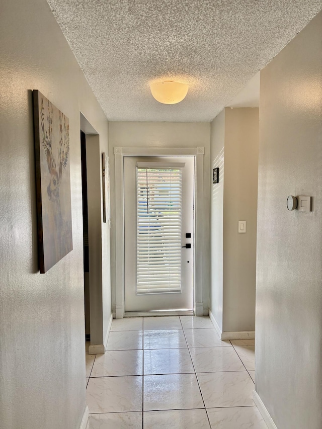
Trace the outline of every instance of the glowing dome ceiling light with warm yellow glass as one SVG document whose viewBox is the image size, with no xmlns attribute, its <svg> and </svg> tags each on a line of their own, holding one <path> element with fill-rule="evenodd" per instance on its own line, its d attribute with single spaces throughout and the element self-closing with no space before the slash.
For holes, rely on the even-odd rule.
<svg viewBox="0 0 322 429">
<path fill-rule="evenodd" d="M 163 80 L 150 83 L 151 94 L 159 103 L 180 103 L 187 95 L 189 85 L 175 82 L 174 80 Z"/>
</svg>

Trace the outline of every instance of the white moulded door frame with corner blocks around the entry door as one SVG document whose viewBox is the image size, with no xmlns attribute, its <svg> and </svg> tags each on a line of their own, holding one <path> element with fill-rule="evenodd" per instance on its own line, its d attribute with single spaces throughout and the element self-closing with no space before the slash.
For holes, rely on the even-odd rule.
<svg viewBox="0 0 322 429">
<path fill-rule="evenodd" d="M 195 156 L 195 248 L 194 248 L 194 310 L 203 315 L 203 158 L 204 147 L 115 147 L 115 270 L 117 319 L 124 317 L 124 156 Z"/>
</svg>

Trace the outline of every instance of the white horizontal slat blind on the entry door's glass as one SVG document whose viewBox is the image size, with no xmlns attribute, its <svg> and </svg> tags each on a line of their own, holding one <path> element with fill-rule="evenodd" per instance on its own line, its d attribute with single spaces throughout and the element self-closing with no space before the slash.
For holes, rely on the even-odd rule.
<svg viewBox="0 0 322 429">
<path fill-rule="evenodd" d="M 166 166 L 165 166 L 166 165 Z M 137 167 L 136 292 L 181 291 L 182 167 Z"/>
</svg>

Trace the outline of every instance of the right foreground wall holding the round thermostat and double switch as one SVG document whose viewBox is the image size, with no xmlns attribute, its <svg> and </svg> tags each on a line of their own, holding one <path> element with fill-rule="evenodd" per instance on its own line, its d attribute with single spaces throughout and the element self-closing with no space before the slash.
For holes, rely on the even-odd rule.
<svg viewBox="0 0 322 429">
<path fill-rule="evenodd" d="M 278 429 L 322 427 L 321 40 L 322 12 L 261 72 L 256 390 Z"/>
</svg>

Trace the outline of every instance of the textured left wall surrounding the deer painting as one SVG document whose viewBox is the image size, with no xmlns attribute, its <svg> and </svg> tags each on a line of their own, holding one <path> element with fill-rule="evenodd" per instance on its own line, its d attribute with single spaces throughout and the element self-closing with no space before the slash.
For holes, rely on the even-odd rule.
<svg viewBox="0 0 322 429">
<path fill-rule="evenodd" d="M 105 152 L 108 122 L 44 0 L 2 2 L 0 39 L 0 426 L 78 429 L 86 405 L 79 111 Z M 70 126 L 73 250 L 46 274 L 37 263 L 33 89 Z M 108 249 L 105 224 L 102 239 Z M 103 258 L 109 288 L 107 251 Z"/>
</svg>

